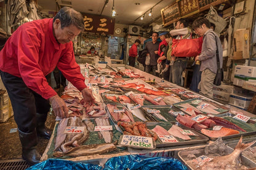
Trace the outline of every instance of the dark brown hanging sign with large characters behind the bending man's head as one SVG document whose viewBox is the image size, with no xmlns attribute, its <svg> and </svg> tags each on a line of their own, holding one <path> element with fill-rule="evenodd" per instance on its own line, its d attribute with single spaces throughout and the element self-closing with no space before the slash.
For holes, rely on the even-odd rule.
<svg viewBox="0 0 256 170">
<path fill-rule="evenodd" d="M 84 15 L 84 31 L 96 34 L 114 34 L 114 18 L 102 15 Z"/>
</svg>

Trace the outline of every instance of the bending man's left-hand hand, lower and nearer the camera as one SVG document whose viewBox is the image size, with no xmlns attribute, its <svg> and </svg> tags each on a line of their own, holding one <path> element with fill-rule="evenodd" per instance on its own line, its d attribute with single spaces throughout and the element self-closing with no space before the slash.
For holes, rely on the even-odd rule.
<svg viewBox="0 0 256 170">
<path fill-rule="evenodd" d="M 52 104 L 52 110 L 54 110 L 54 114 L 56 117 L 65 118 L 68 117 L 68 108 L 66 107 L 66 103 L 63 101 L 60 96 L 55 95 L 49 98 L 50 104 Z"/>
</svg>

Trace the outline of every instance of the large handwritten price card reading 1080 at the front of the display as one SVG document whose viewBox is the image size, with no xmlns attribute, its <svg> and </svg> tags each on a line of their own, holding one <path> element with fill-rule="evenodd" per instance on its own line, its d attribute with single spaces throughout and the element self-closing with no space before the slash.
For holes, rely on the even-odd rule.
<svg viewBox="0 0 256 170">
<path fill-rule="evenodd" d="M 144 136 L 131 136 L 124 134 L 121 136 L 120 145 L 125 145 L 129 147 L 140 147 L 144 149 L 154 149 L 152 137 Z"/>
</svg>

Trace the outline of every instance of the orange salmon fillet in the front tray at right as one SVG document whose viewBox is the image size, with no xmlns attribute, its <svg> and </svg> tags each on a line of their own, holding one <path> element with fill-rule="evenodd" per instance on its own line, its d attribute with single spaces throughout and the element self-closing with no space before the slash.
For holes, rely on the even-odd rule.
<svg viewBox="0 0 256 170">
<path fill-rule="evenodd" d="M 220 130 L 201 129 L 201 133 L 209 137 L 223 137 L 233 134 L 239 134 L 239 131 L 222 127 Z"/>
</svg>

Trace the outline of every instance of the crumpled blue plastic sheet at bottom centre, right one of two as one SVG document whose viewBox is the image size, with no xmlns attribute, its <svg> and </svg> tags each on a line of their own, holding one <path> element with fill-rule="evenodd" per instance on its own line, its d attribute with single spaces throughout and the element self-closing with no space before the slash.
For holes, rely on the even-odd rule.
<svg viewBox="0 0 256 170">
<path fill-rule="evenodd" d="M 147 158 L 145 156 L 140 155 L 126 155 L 110 158 L 108 161 L 106 161 L 104 170 L 127 170 L 127 168 L 129 168 L 130 170 L 188 169 L 181 161 L 175 158 Z"/>
</svg>

